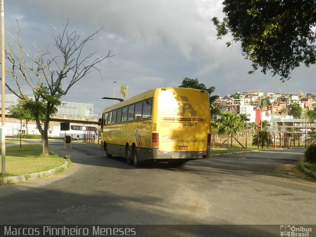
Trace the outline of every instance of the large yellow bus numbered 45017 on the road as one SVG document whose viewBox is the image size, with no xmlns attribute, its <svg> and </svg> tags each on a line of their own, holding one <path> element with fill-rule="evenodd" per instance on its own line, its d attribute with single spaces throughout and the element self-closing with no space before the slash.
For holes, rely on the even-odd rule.
<svg viewBox="0 0 316 237">
<path fill-rule="evenodd" d="M 154 160 L 182 166 L 209 157 L 207 91 L 156 88 L 106 108 L 99 119 L 106 157 L 125 157 L 139 166 Z"/>
</svg>

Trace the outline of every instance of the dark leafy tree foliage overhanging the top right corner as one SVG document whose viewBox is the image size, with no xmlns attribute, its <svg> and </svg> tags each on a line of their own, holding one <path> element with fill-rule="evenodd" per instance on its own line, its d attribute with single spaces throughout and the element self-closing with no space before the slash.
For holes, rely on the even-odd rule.
<svg viewBox="0 0 316 237">
<path fill-rule="evenodd" d="M 271 71 L 280 80 L 291 78 L 291 71 L 304 63 L 316 64 L 316 0 L 224 0 L 220 21 L 212 18 L 217 38 L 231 33 L 240 41 L 242 54 L 259 67 Z"/>
</svg>

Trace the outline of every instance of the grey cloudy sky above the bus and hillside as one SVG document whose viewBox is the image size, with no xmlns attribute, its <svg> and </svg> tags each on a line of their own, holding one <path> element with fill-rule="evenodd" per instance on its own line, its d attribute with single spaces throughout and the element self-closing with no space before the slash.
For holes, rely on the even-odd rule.
<svg viewBox="0 0 316 237">
<path fill-rule="evenodd" d="M 128 97 L 155 87 L 178 87 L 184 78 L 198 79 L 216 88 L 213 95 L 260 90 L 316 94 L 316 67 L 301 66 L 292 79 L 260 71 L 248 75 L 251 63 L 240 47 L 227 48 L 230 38 L 216 40 L 213 16 L 223 17 L 222 0 L 4 0 L 5 28 L 21 28 L 21 41 L 42 49 L 52 47 L 51 26 L 70 29 L 88 37 L 103 28 L 86 45 L 87 52 L 115 55 L 77 83 L 63 101 L 94 104 L 94 114 L 113 102 L 104 96 L 119 94 L 128 86 Z M 7 36 L 8 33 L 5 33 Z M 9 79 L 6 79 L 9 80 Z M 114 83 L 113 81 L 117 81 Z"/>
</svg>

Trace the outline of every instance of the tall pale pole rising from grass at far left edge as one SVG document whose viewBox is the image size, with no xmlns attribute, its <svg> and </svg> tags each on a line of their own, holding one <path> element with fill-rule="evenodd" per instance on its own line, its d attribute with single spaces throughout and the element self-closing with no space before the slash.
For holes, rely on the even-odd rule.
<svg viewBox="0 0 316 237">
<path fill-rule="evenodd" d="M 5 175 L 4 0 L 1 0 L 1 174 Z"/>
</svg>

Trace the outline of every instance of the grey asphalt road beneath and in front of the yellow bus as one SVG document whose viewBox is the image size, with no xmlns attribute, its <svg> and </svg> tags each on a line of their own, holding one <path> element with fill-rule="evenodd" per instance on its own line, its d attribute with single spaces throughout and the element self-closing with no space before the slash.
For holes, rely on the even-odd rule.
<svg viewBox="0 0 316 237">
<path fill-rule="evenodd" d="M 262 225 L 316 223 L 316 182 L 293 171 L 304 149 L 230 154 L 179 168 L 134 168 L 123 158 L 104 158 L 94 145 L 73 143 L 64 150 L 63 143 L 51 141 L 50 149 L 70 155 L 72 167 L 0 186 L 0 224 L 174 225 L 162 231 L 175 229 L 173 236 L 191 236 L 185 230 L 194 229 L 176 225 L 207 225 L 216 233 L 222 225 L 240 225 L 225 229 L 247 236 Z M 271 228 L 279 236 L 279 227 Z M 204 236 L 202 230 L 192 236 Z"/>
</svg>

